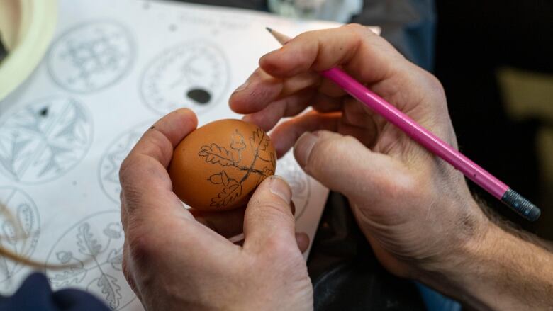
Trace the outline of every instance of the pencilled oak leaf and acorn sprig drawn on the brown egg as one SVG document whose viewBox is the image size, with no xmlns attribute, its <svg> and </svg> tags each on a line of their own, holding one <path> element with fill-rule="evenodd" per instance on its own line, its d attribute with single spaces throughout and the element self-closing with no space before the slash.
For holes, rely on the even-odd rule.
<svg viewBox="0 0 553 311">
<path fill-rule="evenodd" d="M 198 155 L 204 157 L 207 163 L 218 164 L 223 166 L 223 169 L 216 174 L 209 176 L 208 181 L 214 185 L 221 185 L 222 188 L 218 195 L 211 198 L 211 206 L 221 208 L 235 202 L 242 196 L 242 185 L 250 176 L 257 176 L 257 185 L 261 181 L 272 174 L 277 163 L 277 158 L 274 152 L 269 152 L 269 136 L 261 129 L 257 128 L 252 131 L 252 135 L 245 139 L 244 135 L 238 129 L 235 129 L 230 136 L 229 147 L 220 146 L 215 143 L 211 145 L 201 146 Z M 242 157 L 242 152 L 250 148 L 253 157 L 250 163 L 242 163 L 245 160 Z M 272 164 L 271 166 L 263 166 L 262 169 L 255 169 L 257 160 Z M 231 177 L 237 174 L 229 174 L 240 172 L 240 178 Z"/>
</svg>

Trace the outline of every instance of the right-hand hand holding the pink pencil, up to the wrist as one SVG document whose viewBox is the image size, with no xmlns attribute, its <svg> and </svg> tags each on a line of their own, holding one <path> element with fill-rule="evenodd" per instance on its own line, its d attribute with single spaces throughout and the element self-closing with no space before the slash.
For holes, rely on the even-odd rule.
<svg viewBox="0 0 553 311">
<path fill-rule="evenodd" d="M 384 266 L 420 277 L 457 264 L 488 220 L 464 176 L 317 72 L 342 67 L 442 140 L 457 146 L 440 82 L 359 25 L 298 35 L 259 61 L 230 107 L 264 130 L 279 156 L 350 200 Z M 460 260 L 460 259 L 459 259 Z"/>
</svg>

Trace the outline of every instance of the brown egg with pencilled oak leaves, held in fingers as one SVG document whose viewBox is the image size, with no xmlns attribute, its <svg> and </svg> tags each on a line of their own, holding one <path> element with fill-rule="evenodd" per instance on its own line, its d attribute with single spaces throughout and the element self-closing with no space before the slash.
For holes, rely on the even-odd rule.
<svg viewBox="0 0 553 311">
<path fill-rule="evenodd" d="M 241 120 L 218 120 L 194 130 L 174 149 L 173 192 L 198 210 L 230 210 L 247 203 L 277 154 L 263 130 Z"/>
</svg>

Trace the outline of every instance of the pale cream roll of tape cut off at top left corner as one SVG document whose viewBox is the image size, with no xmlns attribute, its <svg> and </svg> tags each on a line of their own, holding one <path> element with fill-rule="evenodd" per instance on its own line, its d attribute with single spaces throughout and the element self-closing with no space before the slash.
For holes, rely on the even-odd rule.
<svg viewBox="0 0 553 311">
<path fill-rule="evenodd" d="M 0 101 L 33 72 L 48 50 L 57 21 L 57 0 L 0 0 Z"/>
</svg>

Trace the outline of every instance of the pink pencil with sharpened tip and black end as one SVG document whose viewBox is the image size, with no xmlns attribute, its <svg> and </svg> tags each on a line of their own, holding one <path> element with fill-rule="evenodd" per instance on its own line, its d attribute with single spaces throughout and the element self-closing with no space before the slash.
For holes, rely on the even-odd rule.
<svg viewBox="0 0 553 311">
<path fill-rule="evenodd" d="M 271 28 L 267 28 L 267 30 L 269 30 L 269 33 L 271 33 L 282 45 L 290 40 L 286 35 L 272 30 Z M 389 123 L 396 125 L 396 127 L 405 132 L 413 140 L 454 166 L 455 169 L 461 171 L 464 176 L 467 176 L 471 181 L 474 181 L 474 183 L 491 193 L 492 196 L 498 198 L 498 200 L 503 201 L 505 205 L 522 217 L 530 221 L 535 221 L 540 217 L 541 211 L 536 205 L 523 198 L 523 196 L 520 196 L 519 193 L 513 191 L 513 189 L 509 188 L 505 183 L 496 179 L 496 177 L 488 173 L 485 169 L 482 169 L 462 153 L 455 150 L 448 145 L 447 142 L 440 140 L 440 138 L 432 134 L 432 132 L 420 126 L 415 120 L 399 111 L 398 108 L 392 106 L 373 91 L 367 89 L 342 69 L 328 69 L 324 72 L 320 72 L 320 74 L 334 81 L 348 94 L 357 98 L 358 101 L 364 103 L 367 107 L 379 113 L 379 115 L 382 115 Z"/>
</svg>

